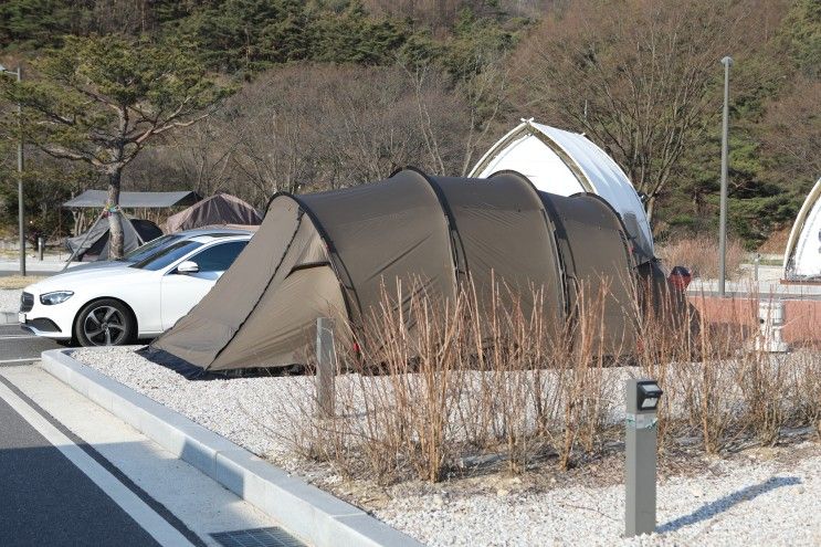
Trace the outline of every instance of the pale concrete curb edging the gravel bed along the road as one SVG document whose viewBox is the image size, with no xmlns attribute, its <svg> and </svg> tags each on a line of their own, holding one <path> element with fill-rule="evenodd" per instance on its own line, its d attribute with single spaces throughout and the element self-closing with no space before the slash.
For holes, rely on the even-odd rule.
<svg viewBox="0 0 821 547">
<path fill-rule="evenodd" d="M 76 361 L 71 349 L 43 351 L 52 376 L 255 505 L 316 547 L 422 544 L 364 511 L 288 475 L 228 439 Z"/>
</svg>

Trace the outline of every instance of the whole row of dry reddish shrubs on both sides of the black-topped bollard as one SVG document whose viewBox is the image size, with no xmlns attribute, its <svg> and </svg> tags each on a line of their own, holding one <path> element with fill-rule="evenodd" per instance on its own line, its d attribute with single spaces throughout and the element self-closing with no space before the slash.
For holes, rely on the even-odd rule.
<svg viewBox="0 0 821 547">
<path fill-rule="evenodd" d="M 302 417 L 293 448 L 381 484 L 481 473 L 487 462 L 513 474 L 578 467 L 603 461 L 621 439 L 623 386 L 633 376 L 665 390 L 661 452 L 691 451 L 695 440 L 720 454 L 779 443 L 787 428 L 821 428 L 819 351 L 754 351 L 749 328 L 718 330 L 666 301 L 654 313 L 625 309 L 640 343 L 606 353 L 608 295 L 588 293 L 575 320 L 556 325 L 538 291 L 533 309 L 504 288 L 490 309 L 472 290 L 455 302 L 386 291 L 361 330 L 337 329 L 337 347 L 356 340 L 361 351 L 339 353 L 335 417 L 317 413 L 307 383 L 277 402 Z"/>
</svg>

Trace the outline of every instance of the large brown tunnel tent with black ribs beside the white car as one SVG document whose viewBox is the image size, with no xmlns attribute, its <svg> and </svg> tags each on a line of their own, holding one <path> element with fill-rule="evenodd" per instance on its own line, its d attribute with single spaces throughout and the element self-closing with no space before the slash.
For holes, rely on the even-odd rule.
<svg viewBox="0 0 821 547">
<path fill-rule="evenodd" d="M 621 280 L 604 304 L 603 343 L 629 347 L 632 275 L 621 220 L 596 196 L 538 192 L 513 171 L 465 179 L 406 169 L 376 183 L 275 196 L 231 269 L 145 355 L 189 377 L 297 364 L 312 351 L 318 317 L 356 325 L 397 280 L 423 280 L 427 294 L 453 298 L 470 278 L 484 302 L 492 278 L 504 280 L 523 308 L 533 306 L 530 287 L 544 286 L 544 313 L 556 322 L 573 309 L 580 284 Z"/>
</svg>

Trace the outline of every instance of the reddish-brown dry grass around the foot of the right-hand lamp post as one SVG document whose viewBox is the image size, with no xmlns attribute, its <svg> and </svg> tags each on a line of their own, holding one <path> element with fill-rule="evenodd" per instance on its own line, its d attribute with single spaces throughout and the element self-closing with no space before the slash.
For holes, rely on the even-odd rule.
<svg viewBox="0 0 821 547">
<path fill-rule="evenodd" d="M 718 240 L 699 235 L 693 239 L 672 241 L 656 248 L 662 261 L 672 266 L 685 266 L 694 277 L 718 277 Z M 727 241 L 727 278 L 737 280 L 747 252 L 739 241 Z"/>
</svg>

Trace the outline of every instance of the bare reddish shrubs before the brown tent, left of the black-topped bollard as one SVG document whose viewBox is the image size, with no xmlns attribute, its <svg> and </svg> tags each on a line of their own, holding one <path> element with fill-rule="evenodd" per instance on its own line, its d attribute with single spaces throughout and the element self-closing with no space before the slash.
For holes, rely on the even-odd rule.
<svg viewBox="0 0 821 547">
<path fill-rule="evenodd" d="M 435 482 L 485 461 L 511 473 L 545 459 L 567 469 L 600 450 L 610 411 L 597 313 L 606 291 L 580 297 L 567 328 L 544 313 L 541 288 L 525 304 L 495 283 L 484 309 L 470 284 L 444 302 L 422 286 L 385 288 L 361 328 L 343 334 L 358 353 L 341 357 L 335 418 L 314 412 L 310 386 L 295 385 L 306 390 L 290 398 L 303 401 L 292 439 L 299 452 L 391 483 Z"/>
</svg>

